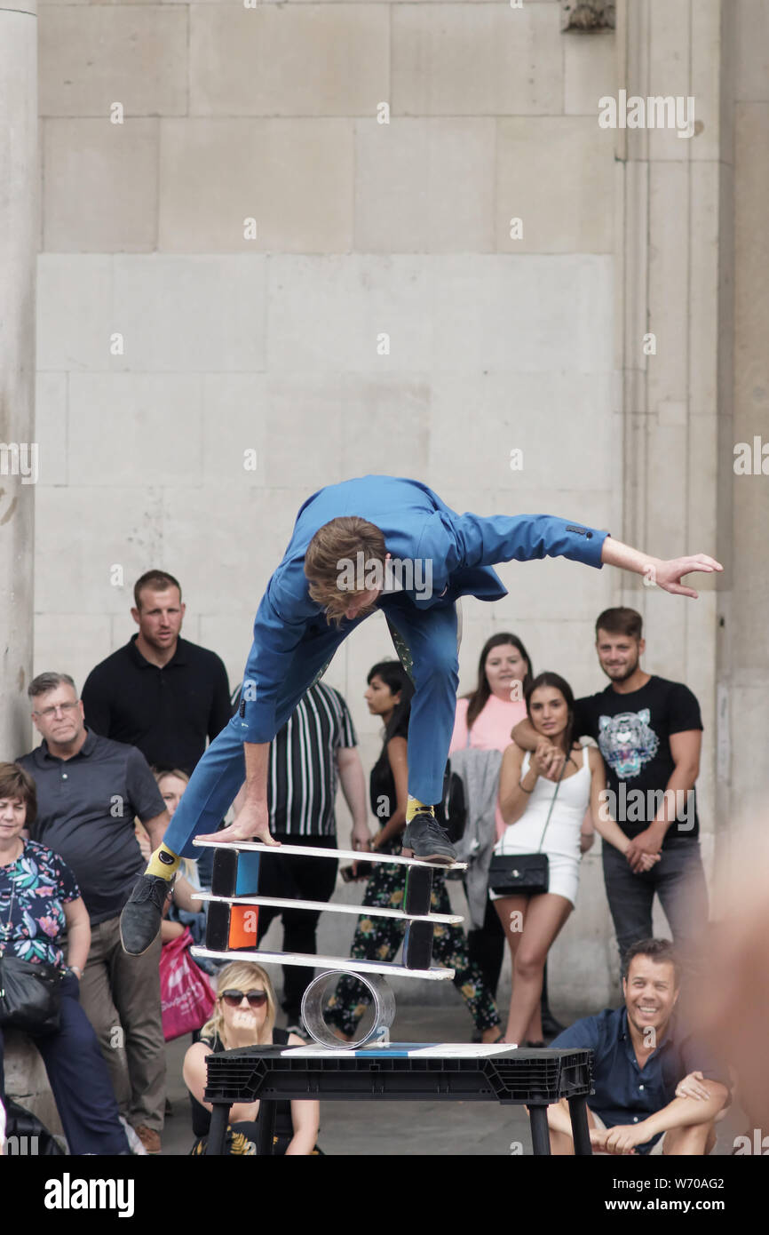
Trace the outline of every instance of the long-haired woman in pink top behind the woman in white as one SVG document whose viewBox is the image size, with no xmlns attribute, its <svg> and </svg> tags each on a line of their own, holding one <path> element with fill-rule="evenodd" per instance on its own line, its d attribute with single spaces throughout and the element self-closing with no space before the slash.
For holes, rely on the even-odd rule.
<svg viewBox="0 0 769 1235">
<path fill-rule="evenodd" d="M 478 662 L 478 685 L 470 694 L 457 700 L 449 755 L 465 746 L 481 751 L 504 751 L 510 746 L 511 729 L 526 716 L 523 692 L 531 678 L 531 659 L 517 635 L 500 631 L 488 638 Z M 495 820 L 499 840 L 505 831 L 499 803 Z M 468 931 L 468 952 L 480 966 L 486 986 L 496 994 L 505 955 L 505 934 L 490 900 L 483 926 Z M 544 1013 L 547 995 L 543 998 Z"/>
</svg>

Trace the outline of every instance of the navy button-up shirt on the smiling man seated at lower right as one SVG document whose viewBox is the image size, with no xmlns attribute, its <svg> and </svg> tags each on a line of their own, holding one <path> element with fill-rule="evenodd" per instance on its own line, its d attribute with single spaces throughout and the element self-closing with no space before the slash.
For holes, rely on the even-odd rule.
<svg viewBox="0 0 769 1235">
<path fill-rule="evenodd" d="M 668 1030 L 643 1067 L 636 1058 L 627 1025 L 626 1008 L 607 1008 L 597 1016 L 575 1021 L 551 1042 L 552 1050 L 580 1046 L 595 1052 L 594 1095 L 588 1105 L 607 1128 L 639 1124 L 668 1107 L 675 1087 L 690 1072 L 701 1072 L 706 1081 L 728 1086 L 726 1070 L 715 1056 L 671 1018 Z M 639 1145 L 637 1153 L 648 1153 L 662 1136 Z"/>
</svg>

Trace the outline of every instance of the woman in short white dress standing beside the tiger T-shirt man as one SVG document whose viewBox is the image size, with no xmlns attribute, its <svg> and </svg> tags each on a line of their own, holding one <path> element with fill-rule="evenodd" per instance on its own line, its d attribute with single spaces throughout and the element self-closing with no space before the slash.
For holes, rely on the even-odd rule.
<svg viewBox="0 0 769 1235">
<path fill-rule="evenodd" d="M 547 953 L 572 913 L 579 885 L 580 830 L 588 806 L 596 831 L 625 852 L 622 829 L 609 818 L 604 761 L 596 747 L 572 741 L 574 695 L 557 673 L 539 673 L 526 689 L 526 710 L 547 745 L 568 755 L 560 782 L 544 776 L 544 746 L 528 752 L 513 742 L 502 756 L 499 805 L 507 825 L 494 852 L 548 856 L 548 890 L 496 895 L 490 892 L 512 953 L 512 998 L 506 1042 L 541 1046 L 539 993 Z M 552 809 L 551 809 L 552 808 Z M 548 823 L 549 814 L 549 823 Z M 547 825 L 547 826 L 546 826 Z M 543 839 L 544 834 L 544 839 Z M 644 866 L 648 869 L 658 855 Z"/>
</svg>

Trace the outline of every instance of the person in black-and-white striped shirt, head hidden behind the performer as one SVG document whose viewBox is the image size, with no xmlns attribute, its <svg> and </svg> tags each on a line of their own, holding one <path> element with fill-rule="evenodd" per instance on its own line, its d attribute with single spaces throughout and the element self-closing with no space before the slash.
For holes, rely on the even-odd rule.
<svg viewBox="0 0 769 1235">
<path fill-rule="evenodd" d="M 238 699 L 235 701 L 237 710 Z M 370 844 L 367 823 L 365 777 L 355 730 L 338 690 L 316 682 L 270 742 L 267 794 L 270 832 L 283 845 L 337 847 L 335 802 L 341 782 L 353 816 L 353 848 Z M 241 795 L 235 802 L 237 814 Z M 259 893 L 288 900 L 331 900 L 337 862 L 309 857 L 281 858 L 280 851 L 260 862 Z M 320 911 L 262 906 L 257 944 L 274 918 L 283 916 L 283 951 L 312 955 L 317 950 Z M 302 1032 L 301 1000 L 314 971 L 299 965 L 283 969 L 283 1009 L 289 1026 Z"/>
</svg>

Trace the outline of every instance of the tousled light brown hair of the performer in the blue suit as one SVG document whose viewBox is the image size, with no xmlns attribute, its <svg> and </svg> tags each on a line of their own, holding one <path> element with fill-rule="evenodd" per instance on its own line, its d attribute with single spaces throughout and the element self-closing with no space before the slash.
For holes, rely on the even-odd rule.
<svg viewBox="0 0 769 1235">
<path fill-rule="evenodd" d="M 339 625 L 351 601 L 364 594 L 349 588 L 339 588 L 339 574 L 346 563 L 357 566 L 357 555 L 363 561 L 381 562 L 386 557 L 384 532 L 358 515 L 332 519 L 318 527 L 305 553 L 305 574 L 310 580 L 310 597 L 322 605 L 326 620 Z"/>
</svg>

